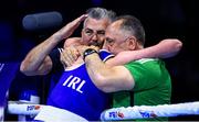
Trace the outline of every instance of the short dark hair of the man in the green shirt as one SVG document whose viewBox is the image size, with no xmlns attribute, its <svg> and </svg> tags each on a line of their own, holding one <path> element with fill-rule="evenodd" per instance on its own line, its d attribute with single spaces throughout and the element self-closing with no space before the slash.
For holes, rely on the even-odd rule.
<svg viewBox="0 0 199 122">
<path fill-rule="evenodd" d="M 137 18 L 133 15 L 121 15 L 116 19 L 116 21 L 117 20 L 122 20 L 121 30 L 127 31 L 134 35 L 139 44 L 145 44 L 145 30 Z"/>
</svg>

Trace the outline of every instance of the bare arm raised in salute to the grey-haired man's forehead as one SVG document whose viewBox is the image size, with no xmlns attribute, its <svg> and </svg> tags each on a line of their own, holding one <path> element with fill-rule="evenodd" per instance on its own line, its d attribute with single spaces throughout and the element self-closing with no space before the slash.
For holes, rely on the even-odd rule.
<svg viewBox="0 0 199 122">
<path fill-rule="evenodd" d="M 48 57 L 50 52 L 62 40 L 67 38 L 85 18 L 86 15 L 81 15 L 34 47 L 22 62 L 20 70 L 27 75 L 36 75 L 36 73 L 43 75 L 49 71 L 52 67 L 51 59 Z"/>
</svg>

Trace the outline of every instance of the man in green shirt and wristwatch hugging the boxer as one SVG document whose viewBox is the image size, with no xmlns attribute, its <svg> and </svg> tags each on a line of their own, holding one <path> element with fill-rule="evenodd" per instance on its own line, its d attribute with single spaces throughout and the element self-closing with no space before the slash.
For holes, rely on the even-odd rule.
<svg viewBox="0 0 199 122">
<path fill-rule="evenodd" d="M 119 16 L 107 27 L 105 36 L 104 47 L 115 55 L 144 48 L 144 27 L 132 15 Z M 96 47 L 85 47 L 82 53 L 96 87 L 113 92 L 113 108 L 170 103 L 171 80 L 163 60 L 142 58 L 124 66 L 109 66 L 108 60 L 104 64 L 100 59 Z M 165 121 L 167 118 L 145 120 Z"/>
</svg>

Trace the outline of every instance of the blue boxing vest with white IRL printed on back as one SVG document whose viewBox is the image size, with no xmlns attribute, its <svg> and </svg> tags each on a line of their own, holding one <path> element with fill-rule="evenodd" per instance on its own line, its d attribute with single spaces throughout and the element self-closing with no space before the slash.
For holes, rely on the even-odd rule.
<svg viewBox="0 0 199 122">
<path fill-rule="evenodd" d="M 101 49 L 100 57 L 105 62 L 113 55 Z M 101 112 L 109 107 L 108 100 L 108 95 L 95 87 L 85 64 L 82 64 L 75 69 L 65 70 L 62 74 L 48 99 L 48 104 L 65 109 L 86 120 L 96 121 L 100 120 Z"/>
</svg>

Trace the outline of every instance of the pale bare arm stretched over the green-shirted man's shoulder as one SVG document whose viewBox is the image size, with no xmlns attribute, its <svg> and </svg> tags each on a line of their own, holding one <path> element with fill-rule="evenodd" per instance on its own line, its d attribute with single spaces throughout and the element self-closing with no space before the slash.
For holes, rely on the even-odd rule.
<svg viewBox="0 0 199 122">
<path fill-rule="evenodd" d="M 182 43 L 178 40 L 163 40 L 160 43 L 138 51 L 125 51 L 106 62 L 109 66 L 124 65 L 140 58 L 168 58 L 177 55 Z"/>
</svg>

